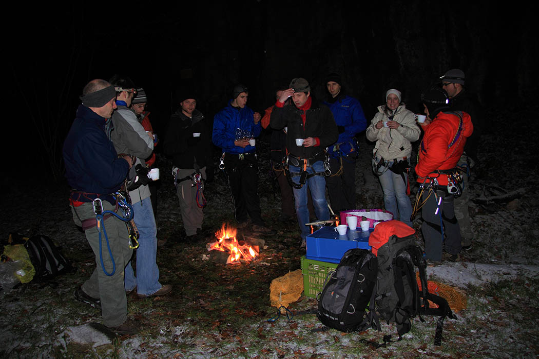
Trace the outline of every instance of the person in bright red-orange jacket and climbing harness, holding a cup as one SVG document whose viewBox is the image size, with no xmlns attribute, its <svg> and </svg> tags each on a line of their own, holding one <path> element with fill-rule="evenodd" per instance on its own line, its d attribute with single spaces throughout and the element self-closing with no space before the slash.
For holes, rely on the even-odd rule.
<svg viewBox="0 0 539 359">
<path fill-rule="evenodd" d="M 472 135 L 471 117 L 466 112 L 451 112 L 445 90 L 432 88 L 421 95 L 427 120 L 425 135 L 416 166 L 417 181 L 423 184 L 421 232 L 426 258 L 441 261 L 445 232 L 447 259 L 456 261 L 461 249 L 460 228 L 454 213 L 454 195 L 458 193 L 455 166 L 462 155 L 466 138 Z M 443 223 L 443 226 L 442 226 Z"/>
</svg>

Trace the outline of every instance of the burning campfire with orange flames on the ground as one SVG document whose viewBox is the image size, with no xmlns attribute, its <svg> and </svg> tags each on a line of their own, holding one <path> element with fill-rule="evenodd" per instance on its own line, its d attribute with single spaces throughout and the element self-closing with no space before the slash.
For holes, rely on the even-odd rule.
<svg viewBox="0 0 539 359">
<path fill-rule="evenodd" d="M 225 256 L 226 264 L 241 261 L 252 261 L 258 257 L 260 252 L 258 245 L 249 245 L 245 240 L 238 241 L 236 238 L 236 228 L 229 227 L 226 223 L 215 233 L 216 242 L 206 244 L 210 255 L 212 251 L 224 252 L 219 257 Z M 244 238 L 245 239 L 245 238 Z M 215 253 L 215 252 L 214 252 Z"/>
</svg>

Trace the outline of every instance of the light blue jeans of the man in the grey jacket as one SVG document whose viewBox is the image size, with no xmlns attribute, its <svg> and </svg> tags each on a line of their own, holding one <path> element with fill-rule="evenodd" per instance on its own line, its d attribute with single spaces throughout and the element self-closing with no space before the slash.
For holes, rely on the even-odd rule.
<svg viewBox="0 0 539 359">
<path fill-rule="evenodd" d="M 137 287 L 137 293 L 150 295 L 161 289 L 157 268 L 157 227 L 150 198 L 133 205 L 133 220 L 139 230 L 139 248 L 136 249 L 136 277 L 131 262 L 126 266 L 126 291 Z"/>
</svg>

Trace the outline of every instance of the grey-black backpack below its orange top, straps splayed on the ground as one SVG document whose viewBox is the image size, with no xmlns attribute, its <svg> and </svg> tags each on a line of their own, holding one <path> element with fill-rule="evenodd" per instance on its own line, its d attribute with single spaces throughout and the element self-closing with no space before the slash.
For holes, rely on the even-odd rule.
<svg viewBox="0 0 539 359">
<path fill-rule="evenodd" d="M 445 317 L 452 319 L 455 317 L 447 300 L 429 293 L 425 272 L 426 261 L 423 250 L 416 244 L 415 235 L 404 237 L 391 235 L 387 242 L 378 248 L 377 258 L 378 276 L 375 292 L 379 316 L 388 323 L 396 323 L 398 340 L 410 331 L 411 319 L 414 316 L 419 315 L 420 319 L 421 314 L 440 316 L 434 337 L 434 345 L 440 345 Z M 417 285 L 416 268 L 419 270 L 421 291 Z M 428 300 L 437 304 L 438 308 L 430 308 Z"/>
</svg>

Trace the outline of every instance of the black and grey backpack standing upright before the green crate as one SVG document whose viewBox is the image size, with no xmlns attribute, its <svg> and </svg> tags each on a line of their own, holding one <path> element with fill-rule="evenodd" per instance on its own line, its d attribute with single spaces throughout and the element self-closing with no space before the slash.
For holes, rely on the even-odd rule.
<svg viewBox="0 0 539 359">
<path fill-rule="evenodd" d="M 341 332 L 368 329 L 374 314 L 376 257 L 366 249 L 350 249 L 328 275 L 316 316 L 327 327 Z M 365 311 L 371 303 L 371 310 Z"/>
</svg>

